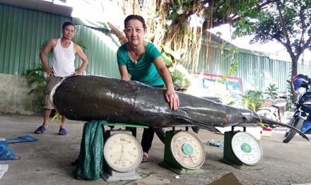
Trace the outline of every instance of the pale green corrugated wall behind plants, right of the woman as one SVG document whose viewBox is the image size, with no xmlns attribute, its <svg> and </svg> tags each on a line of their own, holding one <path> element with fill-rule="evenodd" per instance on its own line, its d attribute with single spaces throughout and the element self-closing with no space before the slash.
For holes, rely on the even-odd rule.
<svg viewBox="0 0 311 185">
<path fill-rule="evenodd" d="M 230 71 L 230 65 L 233 59 L 237 59 L 237 73 L 234 77 L 242 78 L 244 92 L 247 90 L 266 90 L 269 84 L 276 84 L 280 92 L 288 92 L 288 83 L 291 79 L 291 62 L 270 59 L 269 54 L 255 54 L 252 51 L 238 49 L 237 54 L 230 54 L 229 49 L 219 49 L 216 45 L 213 47 L 201 47 L 201 56 L 195 67 L 186 66 L 186 68 L 195 68 L 197 72 L 211 73 L 215 75 L 226 76 Z M 202 56 L 204 50 L 209 49 L 210 58 Z M 182 62 L 181 62 L 182 63 Z M 298 64 L 298 73 L 304 73 L 311 76 L 311 66 L 309 64 Z"/>
</svg>

